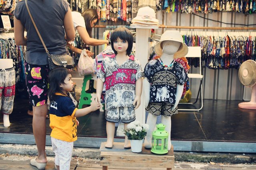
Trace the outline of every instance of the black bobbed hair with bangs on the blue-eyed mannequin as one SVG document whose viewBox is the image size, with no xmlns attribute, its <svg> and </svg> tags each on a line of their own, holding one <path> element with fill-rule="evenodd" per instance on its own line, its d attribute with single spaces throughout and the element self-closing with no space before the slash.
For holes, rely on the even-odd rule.
<svg viewBox="0 0 256 170">
<path fill-rule="evenodd" d="M 115 55 L 117 55 L 117 51 L 114 49 L 114 41 L 116 41 L 117 38 L 120 38 L 128 42 L 126 55 L 130 55 L 132 52 L 132 45 L 133 45 L 133 36 L 131 31 L 125 27 L 118 27 L 111 33 L 111 36 L 110 36 L 111 47 Z"/>
</svg>

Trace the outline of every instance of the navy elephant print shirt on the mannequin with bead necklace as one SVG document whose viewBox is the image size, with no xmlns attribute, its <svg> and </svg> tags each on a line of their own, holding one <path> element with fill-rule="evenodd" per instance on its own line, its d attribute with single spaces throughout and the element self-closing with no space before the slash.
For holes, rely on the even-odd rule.
<svg viewBox="0 0 256 170">
<path fill-rule="evenodd" d="M 152 103 L 175 104 L 177 84 L 183 85 L 188 79 L 180 63 L 165 69 L 159 60 L 149 61 L 144 69 L 144 76 L 150 85 L 150 100 Z"/>
</svg>

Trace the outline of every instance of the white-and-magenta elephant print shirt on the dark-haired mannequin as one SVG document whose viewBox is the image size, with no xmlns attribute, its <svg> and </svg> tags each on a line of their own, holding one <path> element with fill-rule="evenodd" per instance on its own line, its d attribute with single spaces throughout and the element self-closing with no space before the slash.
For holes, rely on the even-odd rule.
<svg viewBox="0 0 256 170">
<path fill-rule="evenodd" d="M 116 55 L 106 57 L 97 73 L 97 77 L 106 84 L 106 110 L 133 107 L 135 84 L 142 74 L 140 62 L 133 55 L 121 66 L 116 61 Z"/>
</svg>

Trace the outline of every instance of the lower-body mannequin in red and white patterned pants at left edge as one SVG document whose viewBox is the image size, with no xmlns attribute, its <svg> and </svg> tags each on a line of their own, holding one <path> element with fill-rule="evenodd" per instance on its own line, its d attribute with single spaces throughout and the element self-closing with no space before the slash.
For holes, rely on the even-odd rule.
<svg viewBox="0 0 256 170">
<path fill-rule="evenodd" d="M 15 70 L 12 59 L 0 59 L 0 109 L 3 113 L 4 127 L 10 126 L 15 95 Z"/>
</svg>

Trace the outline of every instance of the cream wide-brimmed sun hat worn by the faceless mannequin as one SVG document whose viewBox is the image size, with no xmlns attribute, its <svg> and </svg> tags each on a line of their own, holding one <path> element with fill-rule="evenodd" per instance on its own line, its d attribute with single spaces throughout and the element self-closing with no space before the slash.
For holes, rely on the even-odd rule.
<svg viewBox="0 0 256 170">
<path fill-rule="evenodd" d="M 156 45 L 154 47 L 154 51 L 155 51 L 156 55 L 162 56 L 163 41 L 177 41 L 177 42 L 181 43 L 178 51 L 176 53 L 174 53 L 174 59 L 185 57 L 188 54 L 188 46 L 185 43 L 183 43 L 183 38 L 180 35 L 179 31 L 168 30 L 162 34 L 160 41 L 158 43 L 156 43 Z"/>
</svg>

